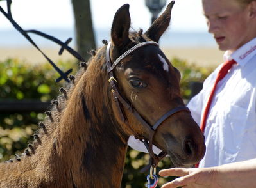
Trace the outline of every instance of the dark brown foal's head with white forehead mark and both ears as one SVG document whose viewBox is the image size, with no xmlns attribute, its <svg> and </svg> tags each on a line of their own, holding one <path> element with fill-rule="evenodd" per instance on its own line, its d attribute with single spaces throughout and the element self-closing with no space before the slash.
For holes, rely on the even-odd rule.
<svg viewBox="0 0 256 188">
<path fill-rule="evenodd" d="M 129 33 L 129 5 L 119 8 L 112 24 L 110 60 L 114 62 L 138 43 L 158 42 L 169 26 L 172 6 L 173 3 L 170 3 L 144 34 L 142 31 Z M 113 72 L 120 94 L 151 126 L 171 109 L 185 106 L 180 96 L 180 72 L 171 65 L 156 43 L 144 45 L 128 54 Z M 122 108 L 126 118 L 123 122 L 114 104 L 113 109 L 128 134 L 150 139 L 150 130 L 142 126 L 132 111 Z M 205 153 L 203 134 L 189 111 L 178 111 L 160 123 L 153 136 L 153 144 L 168 153 L 178 166 L 195 164 Z"/>
</svg>

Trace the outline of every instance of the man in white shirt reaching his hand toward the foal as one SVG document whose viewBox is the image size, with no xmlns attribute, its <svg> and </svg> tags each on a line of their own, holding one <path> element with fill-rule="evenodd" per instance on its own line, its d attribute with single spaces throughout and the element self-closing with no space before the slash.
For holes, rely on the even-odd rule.
<svg viewBox="0 0 256 188">
<path fill-rule="evenodd" d="M 256 0 L 203 0 L 203 12 L 209 33 L 226 51 L 224 60 L 236 63 L 212 95 L 204 129 L 207 149 L 199 164 L 204 168 L 161 171 L 182 176 L 163 187 L 256 187 Z M 188 104 L 199 125 L 222 66 Z"/>
</svg>

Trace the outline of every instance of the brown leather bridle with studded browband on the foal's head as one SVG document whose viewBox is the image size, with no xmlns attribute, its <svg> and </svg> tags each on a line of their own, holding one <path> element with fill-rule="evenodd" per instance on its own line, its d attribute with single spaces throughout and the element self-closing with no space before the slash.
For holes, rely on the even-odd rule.
<svg viewBox="0 0 256 188">
<path fill-rule="evenodd" d="M 112 61 L 110 59 L 110 46 L 111 46 L 111 42 L 108 42 L 107 45 L 107 49 L 106 49 L 106 59 L 107 59 L 107 72 L 108 72 L 108 82 L 110 82 L 110 86 L 112 88 L 112 93 L 113 93 L 113 97 L 114 97 L 114 102 L 117 106 L 117 109 L 119 111 L 120 117 L 123 120 L 123 122 L 126 121 L 126 116 L 124 114 L 124 110 L 123 107 L 125 107 L 128 111 L 130 111 L 130 113 L 132 113 L 137 120 L 139 120 L 141 122 L 141 124 L 149 130 L 149 141 L 141 135 L 135 135 L 136 139 L 139 139 L 140 141 L 142 141 L 144 143 L 144 145 L 146 146 L 149 155 L 151 157 L 151 166 L 153 166 L 154 168 L 157 166 L 158 162 L 166 156 L 166 152 L 161 152 L 159 153 L 159 155 L 155 155 L 155 153 L 153 152 L 153 136 L 155 134 L 155 130 L 157 130 L 157 127 L 159 127 L 159 125 L 161 125 L 161 123 L 166 120 L 167 118 L 169 118 L 169 116 L 172 116 L 175 113 L 178 113 L 179 111 L 189 111 L 189 109 L 185 106 L 179 106 L 179 107 L 175 107 L 174 109 L 171 109 L 170 111 L 167 111 L 166 114 L 164 114 L 161 118 L 159 118 L 157 120 L 157 122 L 152 126 L 150 125 L 146 120 L 144 120 L 144 118 L 142 118 L 142 116 L 136 111 L 136 109 L 129 103 L 127 102 L 127 100 L 125 98 L 123 98 L 121 96 L 121 94 L 119 93 L 119 90 L 117 88 L 117 80 L 114 78 L 114 73 L 113 70 L 115 68 L 115 66 L 126 56 L 128 56 L 130 53 L 132 53 L 133 51 L 135 51 L 136 49 L 138 49 L 139 47 L 143 47 L 146 45 L 155 45 L 158 47 L 158 43 L 157 42 L 153 42 L 153 41 L 146 41 L 146 42 L 142 42 L 142 43 L 138 43 L 137 45 L 133 46 L 132 48 L 128 49 L 128 51 L 124 52 L 121 56 L 119 56 L 119 58 L 117 58 L 115 60 L 115 62 L 112 64 Z M 123 107 L 122 107 L 123 106 Z M 190 112 L 190 111 L 189 111 Z"/>
</svg>

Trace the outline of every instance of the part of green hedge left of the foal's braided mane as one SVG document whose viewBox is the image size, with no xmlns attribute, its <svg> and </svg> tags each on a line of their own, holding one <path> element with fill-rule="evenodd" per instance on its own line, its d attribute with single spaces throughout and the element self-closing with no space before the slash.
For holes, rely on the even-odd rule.
<svg viewBox="0 0 256 188">
<path fill-rule="evenodd" d="M 62 70 L 76 67 L 73 62 L 58 62 Z M 60 83 L 53 68 L 48 64 L 31 65 L 18 59 L 0 62 L 0 101 L 6 99 L 40 99 L 47 102 L 58 95 Z M 38 129 L 42 113 L 1 113 L 0 114 L 0 161 L 6 161 L 20 153 L 33 132 Z"/>
</svg>

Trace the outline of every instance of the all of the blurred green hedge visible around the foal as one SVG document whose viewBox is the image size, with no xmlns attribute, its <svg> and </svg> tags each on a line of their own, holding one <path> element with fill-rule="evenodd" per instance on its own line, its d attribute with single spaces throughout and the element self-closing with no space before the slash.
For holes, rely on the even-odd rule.
<svg viewBox="0 0 256 188">
<path fill-rule="evenodd" d="M 189 98 L 189 82 L 202 82 L 211 70 L 189 65 L 180 59 L 172 59 L 173 65 L 182 74 L 181 88 L 182 96 Z M 68 68 L 76 69 L 74 62 L 58 62 L 62 70 Z M 73 74 L 76 70 L 73 70 Z M 14 98 L 37 98 L 42 102 L 56 98 L 61 83 L 56 83 L 58 74 L 48 64 L 31 65 L 19 59 L 7 59 L 0 62 L 0 100 Z M 15 153 L 20 154 L 32 140 L 33 132 L 38 129 L 38 121 L 43 120 L 44 114 L 14 113 L 0 114 L 0 161 L 13 158 Z M 148 164 L 149 155 L 128 149 L 122 187 L 144 187 L 146 175 L 139 170 Z M 169 159 L 164 159 L 158 165 L 160 168 L 171 166 Z M 160 184 L 170 178 L 160 178 Z"/>
</svg>

